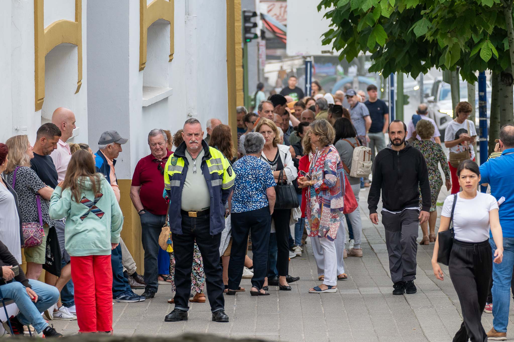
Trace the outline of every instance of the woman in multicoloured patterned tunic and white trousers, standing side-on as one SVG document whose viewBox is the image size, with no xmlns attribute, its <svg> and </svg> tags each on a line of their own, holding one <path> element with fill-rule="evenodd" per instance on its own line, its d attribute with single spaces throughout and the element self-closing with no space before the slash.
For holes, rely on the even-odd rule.
<svg viewBox="0 0 514 342">
<path fill-rule="evenodd" d="M 323 249 L 325 278 L 309 293 L 337 291 L 337 253 L 335 239 L 343 215 L 344 172 L 337 149 L 332 142 L 336 132 L 326 120 L 310 124 L 309 137 L 316 148 L 307 176 L 298 179 L 298 186 L 308 188 L 309 202 L 305 214 L 313 244 Z M 321 266 L 321 265 L 320 265 Z"/>
</svg>

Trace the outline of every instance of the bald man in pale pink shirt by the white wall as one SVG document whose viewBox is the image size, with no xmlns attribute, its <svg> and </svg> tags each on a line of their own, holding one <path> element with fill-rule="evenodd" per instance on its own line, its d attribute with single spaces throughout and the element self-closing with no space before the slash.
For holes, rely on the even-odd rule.
<svg viewBox="0 0 514 342">
<path fill-rule="evenodd" d="M 56 165 L 58 180 L 62 182 L 71 159 L 71 151 L 66 141 L 71 138 L 73 130 L 77 127 L 75 126 L 75 114 L 68 108 L 59 107 L 53 111 L 52 123 L 61 130 L 61 138 L 57 142 L 57 149 L 51 153 L 50 157 Z"/>
</svg>

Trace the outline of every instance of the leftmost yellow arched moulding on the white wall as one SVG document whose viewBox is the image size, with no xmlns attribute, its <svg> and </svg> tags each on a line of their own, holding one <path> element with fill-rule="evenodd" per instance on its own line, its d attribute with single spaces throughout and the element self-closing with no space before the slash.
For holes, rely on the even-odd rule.
<svg viewBox="0 0 514 342">
<path fill-rule="evenodd" d="M 75 0 L 75 21 L 58 20 L 44 27 L 44 0 L 34 0 L 35 111 L 45 99 L 45 56 L 62 43 L 77 46 L 77 91 L 82 85 L 82 0 Z"/>
</svg>

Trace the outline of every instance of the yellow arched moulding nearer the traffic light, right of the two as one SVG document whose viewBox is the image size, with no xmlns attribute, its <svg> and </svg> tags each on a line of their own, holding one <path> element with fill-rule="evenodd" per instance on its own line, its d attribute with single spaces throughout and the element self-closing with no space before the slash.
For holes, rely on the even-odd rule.
<svg viewBox="0 0 514 342">
<path fill-rule="evenodd" d="M 139 0 L 139 71 L 146 66 L 146 40 L 148 39 L 148 28 L 159 19 L 170 23 L 170 55 L 169 62 L 173 60 L 175 48 L 174 41 L 174 0 L 154 0 L 146 5 L 146 0 Z"/>
</svg>

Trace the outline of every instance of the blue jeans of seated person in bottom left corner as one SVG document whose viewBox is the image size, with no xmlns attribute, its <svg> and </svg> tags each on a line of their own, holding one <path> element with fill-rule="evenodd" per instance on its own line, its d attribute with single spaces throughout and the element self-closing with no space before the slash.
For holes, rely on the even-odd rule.
<svg viewBox="0 0 514 342">
<path fill-rule="evenodd" d="M 59 299 L 57 288 L 44 282 L 29 279 L 32 290 L 38 295 L 38 302 L 34 303 L 27 294 L 25 286 L 19 281 L 12 281 L 0 286 L 5 299 L 12 299 L 16 303 L 20 313 L 16 318 L 24 326 L 31 324 L 40 333 L 48 327 L 48 323 L 41 313 L 52 307 Z"/>
</svg>

